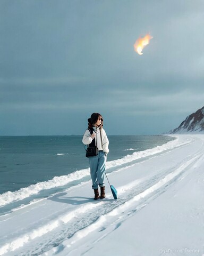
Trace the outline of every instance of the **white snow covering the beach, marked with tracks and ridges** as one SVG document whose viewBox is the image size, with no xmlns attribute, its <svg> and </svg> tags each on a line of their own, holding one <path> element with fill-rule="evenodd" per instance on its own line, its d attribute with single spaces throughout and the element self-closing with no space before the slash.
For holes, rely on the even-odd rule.
<svg viewBox="0 0 204 256">
<path fill-rule="evenodd" d="M 107 163 L 117 200 L 88 179 L 0 216 L 0 255 L 204 256 L 204 135 L 174 137 Z"/>
</svg>

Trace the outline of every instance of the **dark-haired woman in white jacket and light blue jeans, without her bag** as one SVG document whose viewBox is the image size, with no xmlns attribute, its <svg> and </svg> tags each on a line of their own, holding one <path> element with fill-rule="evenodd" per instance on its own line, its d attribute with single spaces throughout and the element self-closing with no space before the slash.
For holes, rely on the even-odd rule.
<svg viewBox="0 0 204 256">
<path fill-rule="evenodd" d="M 91 132 L 92 131 L 92 134 Z M 98 148 L 98 155 L 89 157 L 90 172 L 92 179 L 92 188 L 94 189 L 94 199 L 105 198 L 104 177 L 106 169 L 106 156 L 109 152 L 109 141 L 105 130 L 103 129 L 103 118 L 99 113 L 93 113 L 88 118 L 88 129 L 83 135 L 82 142 L 89 145 L 92 140 L 95 140 L 95 145 Z M 100 196 L 98 192 L 100 187 Z"/>
</svg>

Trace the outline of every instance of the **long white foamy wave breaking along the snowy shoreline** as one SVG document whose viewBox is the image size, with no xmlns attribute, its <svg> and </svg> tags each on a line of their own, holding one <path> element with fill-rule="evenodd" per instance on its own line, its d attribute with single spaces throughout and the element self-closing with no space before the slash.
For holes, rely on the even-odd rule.
<svg viewBox="0 0 204 256">
<path fill-rule="evenodd" d="M 179 147 L 181 145 L 185 145 L 186 143 L 190 143 L 191 141 L 181 141 L 180 143 L 178 142 L 178 138 L 176 138 L 173 141 L 169 141 L 165 143 L 162 146 L 157 146 L 155 148 L 143 150 L 143 151 L 137 151 L 134 152 L 132 155 L 126 155 L 122 157 L 121 159 L 116 159 L 113 161 L 109 161 L 106 163 L 106 169 L 109 169 L 111 167 L 116 167 L 120 166 L 123 164 L 128 164 L 134 160 L 137 160 L 139 158 L 144 158 L 147 156 L 155 155 L 158 153 L 161 153 L 162 151 L 174 148 L 174 147 Z M 48 181 L 43 181 L 43 182 L 38 182 L 34 185 L 31 185 L 26 188 L 21 188 L 16 191 L 7 191 L 0 195 L 0 206 L 4 206 L 6 204 L 10 204 L 15 201 L 22 200 L 24 198 L 30 197 L 31 195 L 38 194 L 41 190 L 44 189 L 52 189 L 55 187 L 60 187 L 64 186 L 69 182 L 73 182 L 75 180 L 82 179 L 84 177 L 87 177 L 90 175 L 89 168 L 88 169 L 83 169 L 79 171 L 75 171 L 73 173 L 70 173 L 68 175 L 62 175 L 59 177 L 54 177 L 52 180 Z"/>
</svg>

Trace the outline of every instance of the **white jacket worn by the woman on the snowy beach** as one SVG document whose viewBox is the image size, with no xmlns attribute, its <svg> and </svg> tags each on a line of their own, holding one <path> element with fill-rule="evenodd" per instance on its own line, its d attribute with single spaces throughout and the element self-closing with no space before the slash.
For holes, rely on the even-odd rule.
<svg viewBox="0 0 204 256">
<path fill-rule="evenodd" d="M 108 149 L 109 141 L 108 141 L 105 130 L 103 128 L 101 129 L 101 138 L 102 138 L 102 145 L 101 145 L 100 129 L 98 129 L 97 127 L 93 127 L 93 128 L 96 133 L 95 141 L 96 141 L 96 146 L 97 146 L 98 150 L 103 150 L 105 153 L 108 153 L 109 152 L 109 149 Z M 91 141 L 92 141 L 91 134 L 90 134 L 89 130 L 86 130 L 86 132 L 83 135 L 82 142 L 84 145 L 88 145 L 91 143 Z"/>
</svg>

